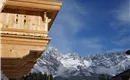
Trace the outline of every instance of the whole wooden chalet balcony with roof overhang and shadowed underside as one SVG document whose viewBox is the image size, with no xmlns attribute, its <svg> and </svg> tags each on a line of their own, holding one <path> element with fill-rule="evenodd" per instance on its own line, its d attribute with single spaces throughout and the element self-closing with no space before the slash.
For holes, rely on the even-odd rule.
<svg viewBox="0 0 130 80">
<path fill-rule="evenodd" d="M 0 70 L 10 78 L 28 74 L 46 49 L 49 29 L 62 3 L 48 0 L 2 0 Z"/>
</svg>

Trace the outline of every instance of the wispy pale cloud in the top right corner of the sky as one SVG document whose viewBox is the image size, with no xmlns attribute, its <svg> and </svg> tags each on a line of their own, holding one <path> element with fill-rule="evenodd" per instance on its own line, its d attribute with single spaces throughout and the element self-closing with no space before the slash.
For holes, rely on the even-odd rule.
<svg viewBox="0 0 130 80">
<path fill-rule="evenodd" d="M 112 10 L 112 12 L 116 18 L 115 22 L 111 23 L 112 26 L 130 24 L 130 0 L 124 0 L 124 2 L 122 2 L 118 8 Z"/>
</svg>

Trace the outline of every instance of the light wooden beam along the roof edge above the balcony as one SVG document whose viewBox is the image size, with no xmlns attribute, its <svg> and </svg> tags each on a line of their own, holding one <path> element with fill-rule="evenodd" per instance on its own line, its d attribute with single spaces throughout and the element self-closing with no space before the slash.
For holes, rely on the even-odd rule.
<svg viewBox="0 0 130 80">
<path fill-rule="evenodd" d="M 40 1 L 40 0 L 39 0 Z M 38 10 L 60 10 L 61 2 L 49 2 L 41 0 L 9 0 L 6 6 L 12 6 L 14 8 L 24 8 L 27 10 L 38 9 Z M 22 5 L 21 5 L 22 4 Z M 32 6 L 33 5 L 33 6 Z"/>
</svg>

